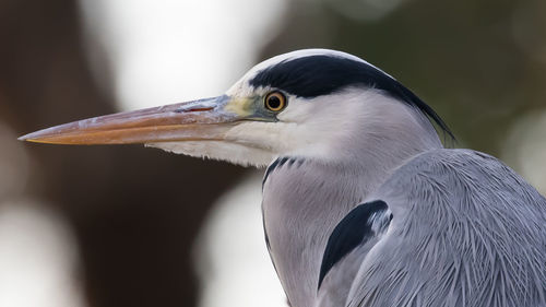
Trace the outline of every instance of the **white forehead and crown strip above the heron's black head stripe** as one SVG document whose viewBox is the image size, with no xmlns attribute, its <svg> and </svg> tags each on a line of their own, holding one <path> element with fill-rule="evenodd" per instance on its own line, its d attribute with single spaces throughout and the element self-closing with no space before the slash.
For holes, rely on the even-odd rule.
<svg viewBox="0 0 546 307">
<path fill-rule="evenodd" d="M 351 54 L 343 52 L 343 51 L 331 50 L 331 49 L 320 49 L 320 48 L 295 50 L 292 52 L 275 56 L 273 58 L 266 59 L 266 60 L 256 64 L 247 73 L 245 73 L 245 75 L 242 75 L 242 78 L 239 79 L 239 81 L 237 81 L 226 92 L 226 94 L 228 94 L 228 95 L 233 95 L 233 94 L 249 95 L 256 88 L 250 86 L 248 84 L 248 81 L 251 80 L 252 78 L 254 78 L 258 74 L 258 72 L 260 72 L 269 67 L 273 67 L 277 63 L 281 63 L 283 61 L 290 61 L 290 60 L 295 60 L 295 59 L 299 59 L 299 58 L 304 58 L 304 57 L 309 57 L 309 56 L 331 56 L 331 57 L 336 57 L 336 58 L 345 58 L 345 59 L 351 59 L 354 61 L 364 62 L 366 64 L 375 67 L 375 66 L 370 64 L 369 62 L 367 62 L 367 61 L 365 61 L 356 56 L 353 56 Z M 375 68 L 378 69 L 377 67 L 375 67 Z M 378 70 L 380 70 L 380 69 L 378 69 Z"/>
</svg>

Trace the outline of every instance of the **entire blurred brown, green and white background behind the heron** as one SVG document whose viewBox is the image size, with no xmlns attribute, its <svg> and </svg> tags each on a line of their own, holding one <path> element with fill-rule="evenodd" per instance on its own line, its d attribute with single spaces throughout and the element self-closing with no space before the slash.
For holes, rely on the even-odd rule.
<svg viewBox="0 0 546 307">
<path fill-rule="evenodd" d="M 382 68 L 546 193 L 543 0 L 0 0 L 0 306 L 285 306 L 260 170 L 16 137 L 309 47 Z"/>
</svg>

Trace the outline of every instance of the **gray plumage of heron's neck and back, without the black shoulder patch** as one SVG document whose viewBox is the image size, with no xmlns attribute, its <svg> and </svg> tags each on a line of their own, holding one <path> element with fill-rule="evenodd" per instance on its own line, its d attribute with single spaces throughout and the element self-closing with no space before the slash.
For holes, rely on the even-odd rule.
<svg viewBox="0 0 546 307">
<path fill-rule="evenodd" d="M 545 199 L 494 157 L 443 149 L 420 111 L 378 94 L 361 90 L 376 105 L 337 139 L 336 160 L 288 156 L 299 162 L 268 169 L 264 228 L 290 305 L 546 306 Z M 372 200 L 392 211 L 388 229 L 317 291 L 330 234 Z"/>
</svg>

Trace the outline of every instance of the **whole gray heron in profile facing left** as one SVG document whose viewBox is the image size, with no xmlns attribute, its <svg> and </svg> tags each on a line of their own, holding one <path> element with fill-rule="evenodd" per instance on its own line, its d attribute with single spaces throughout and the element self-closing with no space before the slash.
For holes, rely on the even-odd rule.
<svg viewBox="0 0 546 307">
<path fill-rule="evenodd" d="M 435 128 L 435 126 L 437 128 Z M 144 143 L 268 166 L 263 225 L 294 307 L 546 306 L 546 200 L 355 56 L 265 60 L 225 94 L 21 140 Z"/>
</svg>

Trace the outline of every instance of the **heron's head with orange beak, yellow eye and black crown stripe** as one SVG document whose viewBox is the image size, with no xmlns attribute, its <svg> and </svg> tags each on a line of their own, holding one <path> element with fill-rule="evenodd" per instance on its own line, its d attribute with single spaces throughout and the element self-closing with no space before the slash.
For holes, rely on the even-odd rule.
<svg viewBox="0 0 546 307">
<path fill-rule="evenodd" d="M 144 143 L 264 166 L 286 154 L 325 158 L 342 141 L 372 135 L 387 121 L 401 125 L 405 119 L 396 115 L 414 111 L 450 133 L 432 109 L 376 67 L 341 51 L 307 49 L 259 63 L 217 97 L 84 119 L 20 140 Z"/>
</svg>

